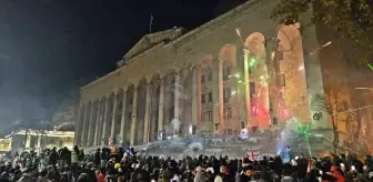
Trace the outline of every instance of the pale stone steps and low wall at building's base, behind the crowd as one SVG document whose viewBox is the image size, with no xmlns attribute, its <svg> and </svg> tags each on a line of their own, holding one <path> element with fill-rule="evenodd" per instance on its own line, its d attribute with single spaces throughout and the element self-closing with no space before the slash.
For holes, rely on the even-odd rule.
<svg viewBox="0 0 373 182">
<path fill-rule="evenodd" d="M 330 131 L 312 130 L 309 136 L 311 153 L 319 156 L 321 153 L 334 151 Z M 189 135 L 171 140 L 154 141 L 137 145 L 134 149 L 147 155 L 183 158 L 185 155 L 229 155 L 242 158 L 245 153 L 258 156 L 276 154 L 285 146 L 290 146 L 294 155 L 309 155 L 308 144 L 301 134 L 288 133 L 282 139 L 281 133 L 261 132 L 250 134 L 249 139 L 241 140 L 239 135 Z M 94 148 L 95 151 L 97 148 Z M 339 151 L 352 151 L 339 146 Z"/>
</svg>

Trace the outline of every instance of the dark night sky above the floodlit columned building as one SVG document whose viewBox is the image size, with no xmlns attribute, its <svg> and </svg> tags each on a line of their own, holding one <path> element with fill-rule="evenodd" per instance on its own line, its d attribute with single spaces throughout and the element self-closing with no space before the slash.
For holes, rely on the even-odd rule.
<svg viewBox="0 0 373 182">
<path fill-rule="evenodd" d="M 50 115 L 69 91 L 114 70 L 151 13 L 153 31 L 191 30 L 242 1 L 0 0 L 0 129 Z"/>
</svg>

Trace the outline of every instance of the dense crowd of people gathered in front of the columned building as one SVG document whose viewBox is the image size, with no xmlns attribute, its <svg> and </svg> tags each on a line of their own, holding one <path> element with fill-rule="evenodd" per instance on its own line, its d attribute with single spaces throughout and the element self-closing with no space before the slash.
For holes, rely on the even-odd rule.
<svg viewBox="0 0 373 182">
<path fill-rule="evenodd" d="M 373 181 L 373 158 L 352 154 L 325 158 L 280 155 L 230 159 L 185 156 L 180 160 L 140 155 L 133 149 L 103 148 L 84 154 L 74 146 L 14 153 L 0 166 L 1 181 L 19 182 L 344 182 Z"/>
</svg>

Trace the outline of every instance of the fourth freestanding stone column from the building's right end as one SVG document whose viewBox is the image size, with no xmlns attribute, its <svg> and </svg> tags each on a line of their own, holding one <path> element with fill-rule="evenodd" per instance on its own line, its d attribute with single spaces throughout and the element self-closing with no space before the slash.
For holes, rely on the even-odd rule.
<svg viewBox="0 0 373 182">
<path fill-rule="evenodd" d="M 193 68 L 192 72 L 192 119 L 193 119 L 193 125 L 200 125 L 200 73 L 201 73 L 201 68 L 200 65 Z"/>
</svg>

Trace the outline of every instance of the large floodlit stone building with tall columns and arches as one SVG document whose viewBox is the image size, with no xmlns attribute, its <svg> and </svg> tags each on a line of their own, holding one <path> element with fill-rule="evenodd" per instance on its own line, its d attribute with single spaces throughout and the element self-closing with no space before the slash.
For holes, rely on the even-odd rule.
<svg viewBox="0 0 373 182">
<path fill-rule="evenodd" d="M 144 36 L 117 70 L 81 88 L 75 143 L 238 134 L 291 117 L 326 128 L 327 114 L 310 104 L 333 83 L 321 62 L 334 42 L 319 27 L 303 29 L 310 14 L 290 26 L 271 20 L 276 3 L 251 0 L 194 30 Z"/>
</svg>

